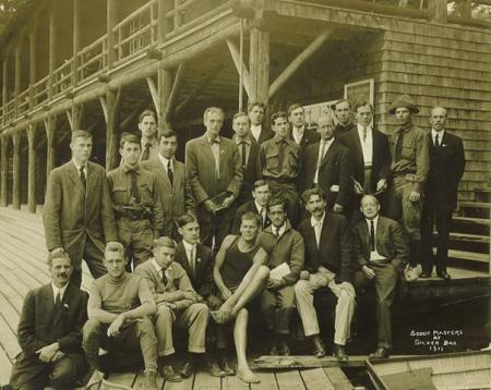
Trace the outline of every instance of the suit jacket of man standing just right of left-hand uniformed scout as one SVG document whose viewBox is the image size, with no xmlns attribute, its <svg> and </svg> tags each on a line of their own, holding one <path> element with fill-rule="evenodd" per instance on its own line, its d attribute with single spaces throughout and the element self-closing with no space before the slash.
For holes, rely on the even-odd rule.
<svg viewBox="0 0 491 390">
<path fill-rule="evenodd" d="M 164 210 L 163 234 L 170 236 L 173 218 L 178 218 L 187 211 L 195 212 L 194 198 L 191 183 L 187 178 L 185 167 L 182 162 L 173 159 L 173 182 L 171 185 L 158 156 L 141 162 L 140 166 L 157 175 L 157 193 Z"/>
</svg>

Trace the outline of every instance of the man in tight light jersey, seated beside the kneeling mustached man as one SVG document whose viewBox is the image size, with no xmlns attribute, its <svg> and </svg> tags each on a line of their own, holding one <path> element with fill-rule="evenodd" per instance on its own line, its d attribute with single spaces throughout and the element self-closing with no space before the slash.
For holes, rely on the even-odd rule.
<svg viewBox="0 0 491 390">
<path fill-rule="evenodd" d="M 104 254 L 107 273 L 94 281 L 88 297 L 88 321 L 83 349 L 91 369 L 99 369 L 99 346 L 109 352 L 141 350 L 145 389 L 157 389 L 157 338 L 148 316 L 156 305 L 144 278 L 125 271 L 124 247 L 108 243 Z"/>
</svg>

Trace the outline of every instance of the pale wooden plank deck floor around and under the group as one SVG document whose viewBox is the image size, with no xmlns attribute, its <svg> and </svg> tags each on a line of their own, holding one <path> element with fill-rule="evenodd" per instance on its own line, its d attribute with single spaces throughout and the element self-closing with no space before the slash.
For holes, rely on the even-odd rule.
<svg viewBox="0 0 491 390">
<path fill-rule="evenodd" d="M 40 209 L 28 214 L 11 208 L 0 208 L 0 385 L 8 383 L 11 364 L 20 352 L 16 341 L 16 327 L 25 294 L 31 289 L 49 282 L 46 265 L 44 228 Z M 84 264 L 82 288 L 88 290 L 92 277 Z M 454 279 L 486 276 L 472 271 L 451 270 Z M 256 371 L 261 383 L 246 385 L 237 377 L 217 379 L 205 371 L 180 383 L 159 379 L 160 389 L 349 389 L 351 385 L 338 367 L 313 369 L 280 369 Z M 110 375 L 110 382 L 127 388 L 143 388 L 141 373 Z M 103 389 L 104 387 L 100 387 Z M 109 387 L 106 387 L 109 388 Z M 122 388 L 122 387 L 121 387 Z M 93 389 L 93 388 L 92 388 Z"/>
</svg>

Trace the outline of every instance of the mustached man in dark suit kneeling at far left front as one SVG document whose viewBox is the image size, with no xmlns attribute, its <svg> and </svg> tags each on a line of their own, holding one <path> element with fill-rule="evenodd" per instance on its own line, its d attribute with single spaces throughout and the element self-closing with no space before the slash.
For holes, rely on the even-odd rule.
<svg viewBox="0 0 491 390">
<path fill-rule="evenodd" d="M 22 348 L 12 367 L 14 389 L 74 388 L 86 371 L 81 345 L 87 293 L 69 283 L 72 261 L 64 252 L 48 257 L 51 283 L 27 293 L 19 322 Z"/>
</svg>

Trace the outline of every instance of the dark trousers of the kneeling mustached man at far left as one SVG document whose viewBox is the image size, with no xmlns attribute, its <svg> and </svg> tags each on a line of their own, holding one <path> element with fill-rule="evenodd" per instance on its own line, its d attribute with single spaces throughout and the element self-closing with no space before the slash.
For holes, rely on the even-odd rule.
<svg viewBox="0 0 491 390">
<path fill-rule="evenodd" d="M 33 361 L 35 359 L 35 361 Z M 43 366 L 39 371 L 29 376 L 27 371 L 33 366 Z M 87 370 L 82 353 L 67 354 L 53 363 L 41 363 L 38 355 L 23 358 L 12 366 L 11 383 L 13 389 L 43 390 L 45 387 L 53 389 L 73 389 Z"/>
</svg>

